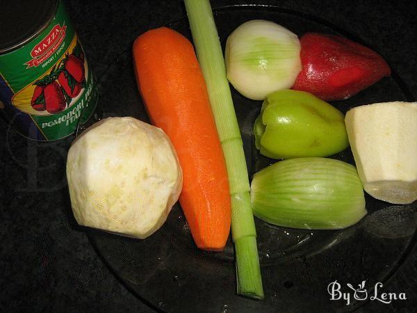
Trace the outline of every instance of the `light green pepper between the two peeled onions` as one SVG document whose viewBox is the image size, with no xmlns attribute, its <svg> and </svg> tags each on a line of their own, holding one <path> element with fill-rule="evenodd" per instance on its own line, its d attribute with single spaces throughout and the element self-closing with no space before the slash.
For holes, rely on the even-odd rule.
<svg viewBox="0 0 417 313">
<path fill-rule="evenodd" d="M 265 157 L 328 157 L 349 146 L 345 117 L 311 93 L 279 90 L 268 95 L 254 124 L 256 148 Z"/>
</svg>

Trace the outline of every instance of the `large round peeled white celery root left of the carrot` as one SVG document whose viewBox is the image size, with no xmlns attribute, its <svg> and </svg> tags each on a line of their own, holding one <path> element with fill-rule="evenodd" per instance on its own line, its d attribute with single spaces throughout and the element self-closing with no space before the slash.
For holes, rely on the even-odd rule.
<svg viewBox="0 0 417 313">
<path fill-rule="evenodd" d="M 67 179 L 80 225 L 140 239 L 165 223 L 182 186 L 169 138 L 134 118 L 106 118 L 76 138 Z"/>
</svg>

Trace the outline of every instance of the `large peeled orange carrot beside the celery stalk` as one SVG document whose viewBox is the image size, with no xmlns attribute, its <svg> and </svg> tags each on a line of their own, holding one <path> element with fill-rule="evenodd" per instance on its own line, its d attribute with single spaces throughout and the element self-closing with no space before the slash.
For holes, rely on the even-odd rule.
<svg viewBox="0 0 417 313">
<path fill-rule="evenodd" d="M 179 202 L 197 247 L 222 250 L 231 204 L 222 146 L 193 45 L 161 27 L 133 43 L 136 81 L 152 123 L 170 137 L 183 170 Z"/>
</svg>

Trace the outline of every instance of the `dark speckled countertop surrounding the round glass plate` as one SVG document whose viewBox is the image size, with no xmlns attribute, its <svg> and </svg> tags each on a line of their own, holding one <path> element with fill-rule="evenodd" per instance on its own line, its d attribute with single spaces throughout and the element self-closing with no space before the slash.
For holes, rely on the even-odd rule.
<svg viewBox="0 0 417 313">
<path fill-rule="evenodd" d="M 252 0 L 212 6 L 242 3 L 288 8 L 340 26 L 379 51 L 417 98 L 415 3 Z M 67 9 L 96 77 L 137 35 L 185 16 L 181 1 L 70 0 Z M 65 177 L 72 140 L 36 143 L 0 124 L 0 311 L 154 312 L 106 268 L 72 218 Z M 359 312 L 414 312 L 416 272 L 415 247 L 384 286 L 405 292 L 408 300 L 372 301 Z"/>
</svg>

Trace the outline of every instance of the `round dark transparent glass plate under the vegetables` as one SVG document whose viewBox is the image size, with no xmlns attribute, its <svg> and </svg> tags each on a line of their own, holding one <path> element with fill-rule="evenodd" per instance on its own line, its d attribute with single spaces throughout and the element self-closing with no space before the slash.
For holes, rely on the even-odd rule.
<svg viewBox="0 0 417 313">
<path fill-rule="evenodd" d="M 268 19 L 297 35 L 307 31 L 336 33 L 361 42 L 337 26 L 299 12 L 270 6 L 229 6 L 215 10 L 224 47 L 227 36 L 250 19 Z M 168 25 L 191 39 L 188 21 Z M 139 35 L 139 34 L 138 34 Z M 149 122 L 136 87 L 131 51 L 126 51 L 101 77 L 101 100 L 96 118 L 133 116 Z M 232 90 L 252 176 L 274 163 L 254 147 L 252 126 L 261 102 Z M 412 101 L 405 84 L 393 72 L 359 95 L 332 102 L 344 113 L 353 106 L 388 101 Z M 92 122 L 94 120 L 90 120 Z M 85 126 L 85 125 L 84 125 Z M 350 149 L 333 156 L 353 163 Z M 337 231 L 294 230 L 255 219 L 264 300 L 236 295 L 234 249 L 229 240 L 223 252 L 204 252 L 193 243 L 181 207 L 176 204 L 165 225 L 145 240 L 87 230 L 92 245 L 129 290 L 166 312 L 334 312 L 354 310 L 366 303 L 355 300 L 354 287 L 363 280 L 370 294 L 376 282 L 386 282 L 416 241 L 416 203 L 397 206 L 366 195 L 368 215 L 352 227 Z M 337 280 L 346 300 L 330 300 L 329 283 Z"/>
</svg>

